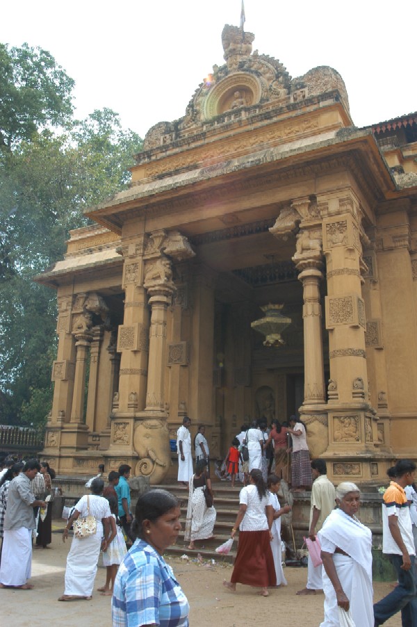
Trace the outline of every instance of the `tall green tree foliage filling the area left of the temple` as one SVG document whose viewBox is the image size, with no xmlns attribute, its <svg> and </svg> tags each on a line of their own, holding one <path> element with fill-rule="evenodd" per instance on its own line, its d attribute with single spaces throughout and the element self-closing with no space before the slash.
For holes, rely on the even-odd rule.
<svg viewBox="0 0 417 627">
<path fill-rule="evenodd" d="M 5 49 L 0 44 L 0 56 Z M 71 111 L 70 101 L 63 106 L 63 94 L 69 97 L 72 81 L 56 69 L 48 53 L 40 52 L 49 60 L 47 67 L 54 68 L 57 86 L 54 97 L 47 81 L 38 98 L 38 103 L 48 104 L 49 113 L 44 104 L 29 108 L 24 98 L 17 111 L 17 97 L 8 111 L 9 101 L 0 100 L 0 133 L 6 138 L 0 158 L 0 422 L 8 424 L 41 425 L 51 405 L 56 293 L 33 277 L 62 259 L 70 229 L 88 224 L 84 209 L 126 186 L 132 155 L 142 147 L 139 136 L 122 129 L 110 109 L 82 121 L 66 117 L 66 128 L 59 132 L 44 128 L 45 122 L 60 123 Z M 31 59 L 29 55 L 29 65 Z M 27 74 L 25 67 L 14 71 L 10 81 Z M 38 90 L 43 89 L 44 72 L 40 70 L 38 82 L 33 79 Z M 25 126 L 22 120 L 31 111 Z M 2 121 L 8 115 L 16 122 L 6 132 Z"/>
</svg>

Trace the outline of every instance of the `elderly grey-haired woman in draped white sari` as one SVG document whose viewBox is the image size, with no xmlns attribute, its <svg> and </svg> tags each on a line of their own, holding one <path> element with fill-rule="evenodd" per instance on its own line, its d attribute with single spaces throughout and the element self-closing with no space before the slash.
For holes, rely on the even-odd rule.
<svg viewBox="0 0 417 627">
<path fill-rule="evenodd" d="M 372 534 L 356 517 L 360 502 L 354 483 L 338 485 L 338 509 L 318 532 L 325 592 L 325 620 L 320 627 L 374 626 Z"/>
</svg>

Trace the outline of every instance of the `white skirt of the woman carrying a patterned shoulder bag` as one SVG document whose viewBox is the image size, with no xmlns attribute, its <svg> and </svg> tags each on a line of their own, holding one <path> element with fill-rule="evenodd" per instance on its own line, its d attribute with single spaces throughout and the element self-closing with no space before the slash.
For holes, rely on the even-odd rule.
<svg viewBox="0 0 417 627">
<path fill-rule="evenodd" d="M 73 538 L 67 555 L 65 592 L 71 596 L 91 596 L 97 574 L 101 533 L 83 539 Z"/>
</svg>

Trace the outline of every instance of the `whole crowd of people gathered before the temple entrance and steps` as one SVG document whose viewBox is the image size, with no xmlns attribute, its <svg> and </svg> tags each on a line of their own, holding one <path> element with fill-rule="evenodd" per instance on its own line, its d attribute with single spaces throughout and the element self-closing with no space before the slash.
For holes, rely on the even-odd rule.
<svg viewBox="0 0 417 627">
<path fill-rule="evenodd" d="M 183 427 L 188 430 L 189 423 Z M 233 540 L 238 533 L 238 546 L 231 578 L 223 584 L 232 593 L 237 592 L 240 584 L 258 587 L 259 594 L 267 597 L 271 587 L 287 585 L 282 568 L 281 516 L 291 512 L 291 505 L 281 507 L 279 503 L 278 494 L 285 480 L 277 474 L 282 475 L 287 465 L 282 463 L 279 450 L 275 455 L 275 462 L 279 462 L 275 463 L 275 473 L 269 473 L 265 480 L 262 463 L 264 448 L 272 441 L 279 442 L 277 448 L 284 448 L 284 429 L 285 437 L 291 434 L 293 443 L 305 435 L 304 425 L 296 420 L 288 426 L 274 423 L 265 437 L 263 428 L 252 424 L 243 439 L 234 439 L 227 454 L 228 470 L 234 478 L 243 466 L 243 447 L 252 451 L 248 462 L 255 466 L 243 473 L 245 485 L 240 489 L 239 510 L 230 534 Z M 183 431 L 180 433 L 183 439 L 179 455 L 186 457 L 187 438 Z M 199 434 L 202 438 L 197 441 Z M 202 428 L 197 436 L 199 459 L 188 479 L 184 534 L 190 550 L 196 548 L 199 540 L 213 537 L 216 516 L 208 444 Z M 289 445 L 287 442 L 288 448 Z M 0 588 L 31 589 L 33 585 L 28 580 L 33 542 L 41 548 L 50 543 L 47 521 L 51 520 L 55 473 L 47 462 L 37 459 L 12 462 L 0 471 Z M 342 482 L 335 488 L 327 478 L 323 459 L 309 460 L 310 479 L 303 455 L 297 464 L 298 469 L 291 469 L 297 487 L 310 482 L 312 488 L 307 581 L 306 587 L 296 594 L 324 593 L 324 620 L 320 627 L 374 627 L 397 612 L 401 612 L 404 627 L 417 627 L 416 464 L 401 459 L 389 470 L 391 482 L 382 505 L 383 553 L 393 564 L 398 580 L 391 592 L 375 604 L 372 533 L 358 517 L 359 487 Z M 267 469 L 271 469 L 269 462 Z M 74 535 L 67 554 L 65 589 L 58 601 L 92 599 L 102 551 L 106 583 L 98 590 L 112 597 L 113 627 L 186 627 L 188 601 L 163 557 L 181 531 L 179 500 L 163 489 L 152 489 L 138 498 L 133 515 L 130 471 L 127 464 L 122 464 L 118 472 L 111 471 L 105 487 L 104 469 L 99 468 L 99 474 L 88 482 L 89 494 L 74 506 L 63 530 L 63 542 L 71 529 Z"/>
</svg>

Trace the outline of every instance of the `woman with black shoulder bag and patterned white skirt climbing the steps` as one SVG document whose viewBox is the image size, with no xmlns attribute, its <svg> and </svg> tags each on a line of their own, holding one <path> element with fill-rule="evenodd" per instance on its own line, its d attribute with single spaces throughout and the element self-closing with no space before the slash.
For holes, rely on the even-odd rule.
<svg viewBox="0 0 417 627">
<path fill-rule="evenodd" d="M 195 466 L 195 474 L 190 478 L 184 539 L 186 542 L 190 542 L 188 548 L 191 551 L 195 548 L 195 540 L 206 540 L 213 537 L 216 512 L 214 507 L 207 507 L 204 498 L 205 488 L 213 496 L 211 480 L 206 476 L 206 466 L 206 461 L 200 459 Z"/>
</svg>

